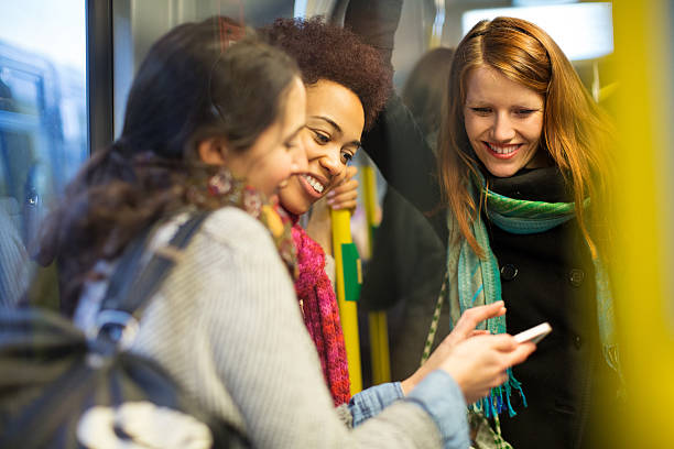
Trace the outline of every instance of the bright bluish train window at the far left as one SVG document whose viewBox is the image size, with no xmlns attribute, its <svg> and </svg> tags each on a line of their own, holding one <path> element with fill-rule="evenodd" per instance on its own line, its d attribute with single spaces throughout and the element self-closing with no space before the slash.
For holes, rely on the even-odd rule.
<svg viewBox="0 0 674 449">
<path fill-rule="evenodd" d="M 46 212 L 88 156 L 85 0 L 0 4 L 0 304 L 22 293 Z"/>
</svg>

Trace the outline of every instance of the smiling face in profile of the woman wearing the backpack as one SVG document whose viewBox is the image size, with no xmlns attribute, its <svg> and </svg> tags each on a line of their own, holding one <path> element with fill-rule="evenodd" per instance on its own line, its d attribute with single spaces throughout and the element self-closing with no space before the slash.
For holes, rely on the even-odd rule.
<svg viewBox="0 0 674 449">
<path fill-rule="evenodd" d="M 281 117 L 265 129 L 253 145 L 227 158 L 229 169 L 268 197 L 286 186 L 295 173 L 306 171 L 302 133 L 305 124 L 306 94 L 300 78 L 289 88 Z"/>
</svg>

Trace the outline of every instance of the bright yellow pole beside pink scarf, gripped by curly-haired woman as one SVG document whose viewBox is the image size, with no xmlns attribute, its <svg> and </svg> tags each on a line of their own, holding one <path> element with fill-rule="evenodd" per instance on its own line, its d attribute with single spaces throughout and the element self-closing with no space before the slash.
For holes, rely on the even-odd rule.
<svg viewBox="0 0 674 449">
<path fill-rule="evenodd" d="M 336 289 L 337 303 L 339 305 L 339 319 L 344 330 L 347 362 L 349 364 L 349 381 L 351 382 L 351 395 L 362 390 L 362 372 L 360 368 L 360 339 L 358 337 L 358 308 L 356 302 L 346 300 L 345 284 L 345 260 L 341 245 L 351 243 L 351 223 L 348 210 L 330 211 L 333 220 L 333 253 L 335 254 L 335 266 L 337 271 Z"/>
</svg>

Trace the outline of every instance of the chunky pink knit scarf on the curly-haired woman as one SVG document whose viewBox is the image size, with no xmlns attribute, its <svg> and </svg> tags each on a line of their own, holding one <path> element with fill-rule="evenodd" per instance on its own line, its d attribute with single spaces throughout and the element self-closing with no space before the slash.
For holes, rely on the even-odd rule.
<svg viewBox="0 0 674 449">
<path fill-rule="evenodd" d="M 293 226 L 292 234 L 297 250 L 295 292 L 304 324 L 316 344 L 323 374 L 338 406 L 350 398 L 349 369 L 337 298 L 325 273 L 325 253 L 300 225 Z"/>
</svg>

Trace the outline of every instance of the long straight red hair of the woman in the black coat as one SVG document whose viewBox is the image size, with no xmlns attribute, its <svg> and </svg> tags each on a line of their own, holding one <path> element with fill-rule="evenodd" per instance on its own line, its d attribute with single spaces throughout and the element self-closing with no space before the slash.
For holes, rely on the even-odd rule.
<svg viewBox="0 0 674 449">
<path fill-rule="evenodd" d="M 478 213 L 466 189 L 477 163 L 464 123 L 466 84 L 476 67 L 491 67 L 545 99 L 541 147 L 573 186 L 578 226 L 593 251 L 605 247 L 610 229 L 609 186 L 613 131 L 608 117 L 583 86 L 573 65 L 543 30 L 521 19 L 497 18 L 477 23 L 456 48 L 443 111 L 438 145 L 441 186 L 461 234 L 482 253 L 470 231 Z M 593 207 L 584 210 L 585 198 Z M 586 217 L 589 220 L 586 220 Z M 601 229 L 601 232 L 595 232 Z M 593 237 L 590 238 L 590 231 Z M 602 248 L 599 248 L 600 250 Z"/>
</svg>

